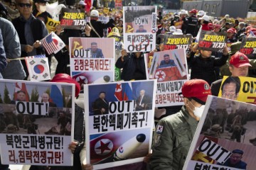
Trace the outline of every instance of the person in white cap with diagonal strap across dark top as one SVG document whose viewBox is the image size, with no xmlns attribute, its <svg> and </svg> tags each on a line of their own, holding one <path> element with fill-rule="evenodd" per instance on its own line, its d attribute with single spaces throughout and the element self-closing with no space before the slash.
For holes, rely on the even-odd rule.
<svg viewBox="0 0 256 170">
<path fill-rule="evenodd" d="M 110 18 L 108 23 L 102 23 L 101 21 L 97 21 L 99 18 L 99 12 L 97 10 L 92 10 L 90 12 L 90 22 L 87 23 L 91 30 L 91 37 L 92 38 L 102 38 L 103 37 L 103 30 L 106 28 L 113 28 L 114 27 L 114 19 Z"/>
</svg>

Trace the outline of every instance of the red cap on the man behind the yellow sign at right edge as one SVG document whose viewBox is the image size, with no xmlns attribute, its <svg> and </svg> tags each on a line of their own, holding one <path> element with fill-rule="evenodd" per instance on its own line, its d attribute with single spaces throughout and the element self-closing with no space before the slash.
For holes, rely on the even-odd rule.
<svg viewBox="0 0 256 170">
<path fill-rule="evenodd" d="M 249 62 L 249 59 L 246 55 L 244 55 L 242 52 L 235 52 L 235 55 L 233 55 L 230 58 L 230 64 L 233 66 L 239 68 L 243 66 L 249 66 L 252 67 L 252 65 Z"/>
</svg>

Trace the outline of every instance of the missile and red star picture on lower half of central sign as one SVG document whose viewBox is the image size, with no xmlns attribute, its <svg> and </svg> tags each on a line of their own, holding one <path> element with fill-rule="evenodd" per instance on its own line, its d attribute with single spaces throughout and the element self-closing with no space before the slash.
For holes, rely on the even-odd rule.
<svg viewBox="0 0 256 170">
<path fill-rule="evenodd" d="M 149 153 L 149 129 L 90 135 L 91 164 L 105 164 L 145 157 Z"/>
</svg>

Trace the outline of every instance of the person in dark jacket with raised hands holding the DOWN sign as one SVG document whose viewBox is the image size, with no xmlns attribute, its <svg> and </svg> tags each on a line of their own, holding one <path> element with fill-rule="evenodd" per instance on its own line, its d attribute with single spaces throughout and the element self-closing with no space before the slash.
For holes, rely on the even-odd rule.
<svg viewBox="0 0 256 170">
<path fill-rule="evenodd" d="M 122 50 L 122 56 L 119 57 L 115 66 L 122 70 L 121 79 L 124 81 L 129 80 L 142 80 L 146 79 L 146 68 L 144 62 L 144 55 L 142 52 L 129 52 Z"/>
</svg>

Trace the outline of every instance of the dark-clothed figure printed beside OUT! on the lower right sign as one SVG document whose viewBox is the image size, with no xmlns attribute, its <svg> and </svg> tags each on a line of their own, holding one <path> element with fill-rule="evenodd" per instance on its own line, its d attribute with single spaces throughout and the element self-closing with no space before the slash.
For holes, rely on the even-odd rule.
<svg viewBox="0 0 256 170">
<path fill-rule="evenodd" d="M 234 149 L 232 151 L 231 156 L 228 158 L 228 160 L 224 164 L 220 164 L 220 163 L 218 163 L 218 164 L 223 165 L 223 166 L 237 168 L 237 169 L 246 169 L 247 164 L 241 160 L 242 154 L 244 154 L 244 152 L 242 150 Z"/>
</svg>

